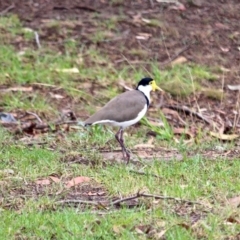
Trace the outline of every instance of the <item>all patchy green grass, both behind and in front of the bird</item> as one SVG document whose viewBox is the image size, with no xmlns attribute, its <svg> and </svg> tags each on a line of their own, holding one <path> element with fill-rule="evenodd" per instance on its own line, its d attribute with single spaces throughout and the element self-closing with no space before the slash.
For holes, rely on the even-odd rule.
<svg viewBox="0 0 240 240">
<path fill-rule="evenodd" d="M 109 20 L 104 24 L 112 29 L 116 23 Z M 57 27 L 57 23 L 54 26 Z M 16 16 L 0 18 L 0 28 L 4 39 L 0 47 L 2 87 L 33 86 L 32 92 L 1 94 L 1 111 L 32 111 L 45 120 L 56 119 L 60 110 L 72 107 L 79 114 L 83 111 L 89 115 L 122 91 L 116 80 L 124 79 L 126 85 L 134 87 L 135 81 L 149 75 L 144 68 L 133 68 L 129 64 L 116 68 L 96 47 L 79 47 L 74 41 L 66 41 L 63 51 L 56 52 L 44 41 L 43 47 L 36 49 L 30 33 L 24 33 Z M 17 36 L 22 37 L 26 48 L 19 50 L 12 44 Z M 96 35 L 95 40 L 101 38 L 101 34 Z M 56 71 L 73 67 L 79 69 L 79 74 Z M 182 97 L 205 90 L 205 81 L 216 81 L 211 69 L 196 64 L 160 71 L 158 64 L 151 62 L 150 72 L 163 89 Z M 94 96 L 92 84 L 95 84 Z M 52 99 L 50 93 L 61 94 L 64 99 Z M 224 157 L 211 160 L 201 154 L 223 145 L 221 142 L 205 141 L 188 146 L 180 141 L 176 144 L 167 120 L 161 113 L 157 116 L 164 127 L 152 126 L 144 118 L 141 127 L 126 131 L 127 146 L 133 149 L 136 144 L 148 142 L 147 133 L 153 130 L 157 132 L 153 145 L 160 149 L 159 154 L 164 152 L 161 149 L 176 148 L 183 156 L 182 161 L 174 157 L 170 161 L 153 157 L 151 161 L 140 159 L 137 164 L 127 166 L 106 161 L 100 150 L 106 146 L 116 149 L 118 145 L 114 140 L 115 129 L 103 126 L 88 129 L 79 126 L 78 130 L 35 133 L 34 136 L 14 135 L 1 127 L 1 239 L 159 239 L 162 234 L 166 239 L 182 240 L 235 236 L 240 231 L 239 224 L 228 219 L 237 219 L 239 209 L 231 208 L 226 198 L 239 195 L 240 162 L 237 158 L 230 161 Z M 204 134 L 199 132 L 200 137 Z M 26 139 L 35 144 L 27 144 Z M 224 147 L 231 149 L 234 144 Z M 61 182 L 36 184 L 36 180 L 49 176 L 57 176 Z M 92 182 L 66 189 L 64 181 L 77 176 L 88 176 Z M 105 201 L 144 191 L 199 201 L 203 205 L 141 198 L 132 208 L 125 203 L 118 208 L 98 205 L 93 209 L 56 202 L 101 191 Z M 87 196 L 90 200 L 97 198 L 96 201 L 101 197 Z M 198 218 L 200 220 L 194 222 Z"/>
</svg>

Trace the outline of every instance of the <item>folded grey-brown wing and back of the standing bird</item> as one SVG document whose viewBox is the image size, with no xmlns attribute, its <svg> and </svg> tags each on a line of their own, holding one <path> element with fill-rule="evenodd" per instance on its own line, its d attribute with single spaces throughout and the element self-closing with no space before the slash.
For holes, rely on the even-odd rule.
<svg viewBox="0 0 240 240">
<path fill-rule="evenodd" d="M 145 104 L 147 104 L 146 98 L 140 91 L 124 92 L 89 117 L 85 124 L 93 124 L 101 120 L 113 120 L 116 122 L 132 120 L 144 108 Z"/>
</svg>

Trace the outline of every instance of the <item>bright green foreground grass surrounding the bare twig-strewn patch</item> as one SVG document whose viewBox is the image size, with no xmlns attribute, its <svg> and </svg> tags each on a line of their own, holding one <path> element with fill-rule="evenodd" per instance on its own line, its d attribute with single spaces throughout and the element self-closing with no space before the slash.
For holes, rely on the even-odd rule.
<svg viewBox="0 0 240 240">
<path fill-rule="evenodd" d="M 73 139 L 74 137 L 72 136 Z M 91 142 L 93 140 L 95 141 L 93 137 L 89 139 Z M 70 139 L 67 139 L 67 141 L 70 141 Z M 79 141 L 82 141 L 82 139 Z M 62 144 L 68 145 L 66 143 Z M 61 147 L 61 145 L 58 146 L 58 148 Z M 81 149 L 81 147 L 78 149 Z M 67 152 L 70 150 L 73 149 L 68 149 Z M 202 234 L 208 236 L 209 239 L 215 239 L 217 236 L 233 234 L 239 229 L 237 225 L 233 227 L 224 224 L 233 210 L 226 209 L 217 201 L 222 196 L 227 197 L 229 193 L 234 195 L 240 191 L 239 185 L 234 183 L 234 179 L 237 179 L 239 174 L 239 161 L 221 160 L 214 161 L 213 164 L 212 161 L 203 159 L 200 155 L 185 159 L 184 162 L 164 162 L 156 159 L 151 165 L 145 166 L 144 171 L 150 175 L 140 176 L 130 173 L 129 167 L 122 164 L 119 166 L 107 165 L 104 168 L 101 165 L 95 168 L 79 164 L 68 165 L 61 162 L 60 153 L 35 147 L 26 150 L 19 146 L 5 145 L 1 155 L 3 156 L 1 169 L 14 170 L 14 174 L 10 176 L 1 176 L 1 181 L 8 182 L 7 189 L 2 188 L 4 199 L 11 206 L 15 205 L 17 208 L 19 208 L 19 204 L 16 206 L 16 201 L 21 202 L 21 208 L 18 210 L 21 212 L 20 215 L 3 203 L 2 220 L 4 224 L 0 235 L 5 236 L 6 239 L 16 236 L 48 239 L 53 235 L 58 239 L 71 239 L 71 236 L 74 239 L 76 237 L 82 238 L 83 231 L 87 239 L 96 237 L 104 239 L 132 237 L 137 239 L 141 235 L 145 235 L 144 233 L 139 235 L 139 231 L 136 230 L 137 227 L 149 223 L 152 223 L 153 228 L 157 231 L 161 231 L 163 227 L 167 226 L 169 230 L 166 236 L 169 239 L 189 239 L 194 236 L 181 227 L 181 223 L 190 225 L 191 220 L 188 219 L 190 213 L 186 212 L 183 216 L 177 216 L 172 211 L 173 207 L 177 206 L 171 202 L 153 203 L 154 207 L 151 209 L 150 215 L 147 210 L 149 202 L 142 199 L 140 208 L 132 210 L 123 208 L 116 213 L 107 214 L 106 212 L 106 215 L 98 216 L 98 214 L 92 213 L 90 209 L 79 212 L 77 208 L 59 208 L 54 203 L 54 199 L 58 198 L 55 194 L 59 191 L 59 187 L 51 192 L 51 195 L 55 197 L 51 197 L 45 192 L 36 198 L 34 193 L 30 191 L 27 196 L 20 193 L 14 199 L 11 199 L 13 194 L 11 191 L 27 189 L 31 186 L 31 181 L 51 174 L 90 176 L 104 186 L 109 196 L 117 196 L 119 190 L 123 196 L 145 190 L 183 199 L 202 200 L 209 205 L 214 202 L 214 210 L 209 210 L 208 217 L 202 219 L 199 223 L 199 227 L 203 231 Z M 10 162 L 9 159 L 11 159 Z M 151 176 L 152 173 L 161 176 L 161 179 Z M 17 177 L 22 180 L 18 180 L 16 183 L 15 179 Z M 21 201 L 22 197 L 25 198 L 24 201 Z M 53 209 L 55 209 L 54 212 Z M 197 209 L 194 211 L 197 212 Z M 221 219 L 222 221 L 220 221 Z M 217 235 L 212 235 L 210 229 Z"/>
</svg>

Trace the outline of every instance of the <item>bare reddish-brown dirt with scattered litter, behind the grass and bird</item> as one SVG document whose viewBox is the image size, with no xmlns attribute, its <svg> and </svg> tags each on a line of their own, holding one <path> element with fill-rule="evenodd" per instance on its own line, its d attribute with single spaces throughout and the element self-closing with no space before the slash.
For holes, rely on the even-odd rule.
<svg viewBox="0 0 240 240">
<path fill-rule="evenodd" d="M 165 68 L 179 56 L 189 62 L 216 67 L 220 69 L 219 81 L 209 83 L 209 86 L 223 88 L 226 98 L 223 101 L 212 100 L 199 94 L 180 105 L 187 102 L 193 108 L 206 108 L 209 110 L 206 114 L 215 117 L 217 122 L 220 116 L 223 133 L 233 125 L 239 131 L 240 123 L 236 122 L 239 96 L 227 87 L 240 83 L 238 0 L 182 0 L 178 3 L 157 0 L 1 0 L 0 12 L 16 13 L 26 26 L 36 31 L 41 30 L 48 19 L 77 21 L 72 30 L 79 46 L 95 45 L 116 68 L 126 64 L 123 56 L 136 65 L 144 65 L 146 59 L 152 59 L 159 63 L 159 68 Z M 116 17 L 114 29 L 109 28 L 104 39 L 93 41 L 89 38 L 89 33 L 101 31 L 94 24 L 96 20 L 114 21 Z M 156 20 L 154 26 L 143 24 L 148 19 Z M 43 41 L 55 44 L 61 36 L 58 40 L 54 36 L 54 29 L 50 28 L 41 37 Z M 58 47 L 61 49 L 60 42 Z"/>
</svg>

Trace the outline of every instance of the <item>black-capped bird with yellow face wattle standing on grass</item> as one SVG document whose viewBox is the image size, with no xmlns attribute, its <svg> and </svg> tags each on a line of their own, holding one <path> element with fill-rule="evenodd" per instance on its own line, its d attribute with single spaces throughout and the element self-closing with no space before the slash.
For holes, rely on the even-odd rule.
<svg viewBox="0 0 240 240">
<path fill-rule="evenodd" d="M 85 120 L 84 126 L 95 124 L 108 124 L 119 127 L 115 138 L 122 149 L 123 159 L 129 163 L 130 153 L 126 149 L 123 139 L 123 131 L 144 117 L 151 99 L 150 92 L 160 90 L 154 79 L 150 77 L 142 78 L 136 89 L 126 91 L 114 97 L 99 111 Z"/>
</svg>

